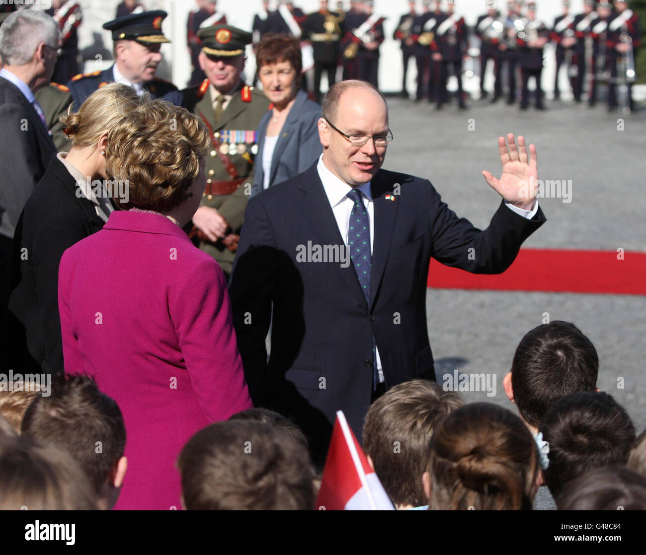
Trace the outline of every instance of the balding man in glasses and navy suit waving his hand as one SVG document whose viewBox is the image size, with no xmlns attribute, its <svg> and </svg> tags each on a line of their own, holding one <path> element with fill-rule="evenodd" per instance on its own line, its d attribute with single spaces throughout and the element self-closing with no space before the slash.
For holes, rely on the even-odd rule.
<svg viewBox="0 0 646 555">
<path fill-rule="evenodd" d="M 371 399 L 407 379 L 435 379 L 430 258 L 503 272 L 545 216 L 536 147 L 528 156 L 524 137 L 498 139 L 502 176 L 483 176 L 505 200 L 481 231 L 426 179 L 380 169 L 392 136 L 386 101 L 368 83 L 333 86 L 318 133 L 316 165 L 249 200 L 229 293 L 254 404 L 293 418 L 321 463 L 335 411 L 360 438 Z"/>
</svg>

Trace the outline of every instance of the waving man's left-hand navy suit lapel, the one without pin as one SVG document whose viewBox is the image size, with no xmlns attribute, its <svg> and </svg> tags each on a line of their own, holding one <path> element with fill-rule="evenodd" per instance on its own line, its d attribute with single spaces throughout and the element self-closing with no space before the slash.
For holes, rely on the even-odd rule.
<svg viewBox="0 0 646 555">
<path fill-rule="evenodd" d="M 318 243 L 318 245 L 344 245 L 337 220 L 332 212 L 332 207 L 329 205 L 328 196 L 325 193 L 320 177 L 318 177 L 316 165 L 307 170 L 303 176 L 303 182 L 298 188 L 302 214 L 313 228 L 311 234 L 312 242 Z M 351 261 L 346 268 L 340 265 L 335 266 L 337 272 L 340 272 L 342 279 L 357 298 L 357 301 L 365 303 L 366 299 L 359 285 L 355 267 Z"/>
</svg>

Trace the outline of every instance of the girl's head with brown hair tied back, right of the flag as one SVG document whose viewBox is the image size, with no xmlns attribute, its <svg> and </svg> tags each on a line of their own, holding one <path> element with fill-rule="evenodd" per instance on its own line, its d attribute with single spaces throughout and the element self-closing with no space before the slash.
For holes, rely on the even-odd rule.
<svg viewBox="0 0 646 555">
<path fill-rule="evenodd" d="M 430 510 L 530 510 L 537 489 L 536 442 L 509 410 L 464 405 L 435 428 L 427 470 Z"/>
</svg>

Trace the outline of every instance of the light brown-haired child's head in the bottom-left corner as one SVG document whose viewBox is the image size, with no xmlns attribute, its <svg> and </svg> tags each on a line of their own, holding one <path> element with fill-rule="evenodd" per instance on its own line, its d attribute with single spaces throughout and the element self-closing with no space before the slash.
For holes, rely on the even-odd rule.
<svg viewBox="0 0 646 555">
<path fill-rule="evenodd" d="M 0 436 L 0 510 L 96 508 L 89 479 L 66 452 L 25 436 Z"/>
</svg>

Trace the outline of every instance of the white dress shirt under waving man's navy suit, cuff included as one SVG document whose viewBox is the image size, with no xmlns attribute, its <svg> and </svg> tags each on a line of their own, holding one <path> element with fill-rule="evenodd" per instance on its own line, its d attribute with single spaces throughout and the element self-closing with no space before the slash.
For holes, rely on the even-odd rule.
<svg viewBox="0 0 646 555">
<path fill-rule="evenodd" d="M 350 212 L 352 212 L 352 207 L 354 206 L 354 201 L 348 198 L 348 193 L 353 189 L 360 190 L 362 192 L 362 200 L 364 206 L 368 210 L 368 217 L 370 218 L 370 252 L 372 253 L 373 245 L 375 243 L 375 203 L 372 198 L 372 193 L 370 190 L 370 181 L 368 183 L 362 183 L 357 185 L 357 187 L 350 187 L 345 181 L 341 181 L 339 177 L 335 176 L 328 167 L 323 162 L 323 155 L 321 154 L 318 159 L 317 165 L 318 177 L 320 177 L 321 183 L 325 190 L 326 195 L 328 196 L 329 205 L 332 207 L 332 213 L 334 214 L 335 219 L 337 220 L 337 226 L 339 226 L 339 232 L 343 238 L 343 242 L 346 244 L 346 249 L 348 248 L 348 232 L 349 232 L 349 221 L 350 221 Z M 531 219 L 534 217 L 536 212 L 538 212 L 538 201 L 534 201 L 534 208 L 532 210 L 523 210 L 523 208 L 517 208 L 514 205 L 511 205 L 505 201 L 505 205 L 519 214 L 519 216 L 526 217 Z M 377 370 L 379 371 L 379 382 L 384 381 L 384 372 L 381 367 L 381 359 L 379 358 L 379 349 L 375 347 L 375 354 L 377 358 Z"/>
</svg>

